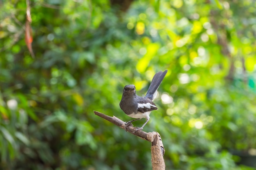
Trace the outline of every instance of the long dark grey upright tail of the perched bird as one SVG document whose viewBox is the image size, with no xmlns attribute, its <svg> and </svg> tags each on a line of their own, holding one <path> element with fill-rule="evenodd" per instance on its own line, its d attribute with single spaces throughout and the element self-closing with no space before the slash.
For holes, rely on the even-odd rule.
<svg viewBox="0 0 256 170">
<path fill-rule="evenodd" d="M 146 94 L 146 97 L 148 97 L 151 100 L 154 100 L 156 97 L 156 92 L 158 87 L 160 86 L 162 80 L 164 79 L 164 76 L 166 75 L 167 70 L 165 70 L 164 72 L 159 71 L 158 73 L 156 73 L 149 85 L 148 88 L 148 92 Z"/>
</svg>

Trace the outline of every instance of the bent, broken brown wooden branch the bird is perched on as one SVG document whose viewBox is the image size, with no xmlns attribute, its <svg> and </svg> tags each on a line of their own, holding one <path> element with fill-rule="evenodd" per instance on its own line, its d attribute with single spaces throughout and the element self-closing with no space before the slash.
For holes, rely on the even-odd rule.
<svg viewBox="0 0 256 170">
<path fill-rule="evenodd" d="M 145 139 L 151 142 L 151 163 L 153 170 L 165 170 L 164 163 L 164 144 L 158 132 L 144 132 L 142 130 L 137 130 L 132 124 L 130 126 L 126 126 L 125 122 L 121 119 L 113 116 L 110 117 L 103 113 L 94 111 L 94 114 L 110 121 L 111 123 L 119 126 L 120 128 L 126 130 L 127 132 L 132 133 L 140 137 L 141 139 Z"/>
</svg>

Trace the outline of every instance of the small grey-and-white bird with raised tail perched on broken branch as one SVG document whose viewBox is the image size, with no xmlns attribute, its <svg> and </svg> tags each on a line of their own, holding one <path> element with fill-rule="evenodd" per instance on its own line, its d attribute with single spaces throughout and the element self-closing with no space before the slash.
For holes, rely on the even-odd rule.
<svg viewBox="0 0 256 170">
<path fill-rule="evenodd" d="M 167 70 L 164 72 L 160 71 L 154 75 L 152 82 L 149 85 L 148 92 L 144 97 L 136 95 L 135 86 L 133 84 L 124 86 L 124 92 L 119 106 L 126 115 L 132 118 L 137 118 L 126 122 L 126 125 L 130 124 L 132 121 L 146 118 L 146 122 L 141 128 L 137 128 L 137 130 L 141 130 L 148 123 L 150 112 L 152 110 L 157 110 L 157 106 L 155 106 L 153 100 L 157 96 L 157 89 L 166 73 Z"/>
</svg>

